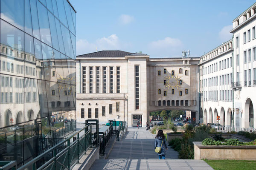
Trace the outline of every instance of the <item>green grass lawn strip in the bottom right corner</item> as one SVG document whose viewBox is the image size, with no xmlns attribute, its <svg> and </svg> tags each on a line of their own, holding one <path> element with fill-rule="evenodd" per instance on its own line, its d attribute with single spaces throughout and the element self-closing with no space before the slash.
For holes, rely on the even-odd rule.
<svg viewBox="0 0 256 170">
<path fill-rule="evenodd" d="M 214 170 L 256 170 L 256 161 L 240 160 L 207 160 Z"/>
</svg>

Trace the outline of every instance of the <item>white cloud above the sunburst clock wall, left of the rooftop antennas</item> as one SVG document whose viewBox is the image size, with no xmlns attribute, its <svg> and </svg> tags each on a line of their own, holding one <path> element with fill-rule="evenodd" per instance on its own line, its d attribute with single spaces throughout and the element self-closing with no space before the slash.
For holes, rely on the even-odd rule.
<svg viewBox="0 0 256 170">
<path fill-rule="evenodd" d="M 154 57 L 181 57 L 181 51 L 183 43 L 177 38 L 165 37 L 148 45 L 148 52 Z"/>
</svg>

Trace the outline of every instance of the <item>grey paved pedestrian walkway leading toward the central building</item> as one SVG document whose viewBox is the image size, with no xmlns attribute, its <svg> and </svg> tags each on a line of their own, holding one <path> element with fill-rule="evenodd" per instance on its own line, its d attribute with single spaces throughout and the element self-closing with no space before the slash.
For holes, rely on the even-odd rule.
<svg viewBox="0 0 256 170">
<path fill-rule="evenodd" d="M 108 159 L 98 159 L 90 170 L 213 170 L 203 160 L 178 159 L 178 153 L 168 147 L 166 160 L 154 152 L 155 135 L 145 128 L 128 128 L 116 142 Z"/>
</svg>

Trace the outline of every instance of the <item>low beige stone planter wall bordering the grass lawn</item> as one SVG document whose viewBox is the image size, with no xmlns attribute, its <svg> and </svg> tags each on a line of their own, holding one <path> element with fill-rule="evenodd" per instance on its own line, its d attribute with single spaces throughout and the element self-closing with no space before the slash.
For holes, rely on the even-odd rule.
<svg viewBox="0 0 256 170">
<path fill-rule="evenodd" d="M 204 146 L 193 142 L 195 159 L 256 160 L 256 146 Z"/>
</svg>

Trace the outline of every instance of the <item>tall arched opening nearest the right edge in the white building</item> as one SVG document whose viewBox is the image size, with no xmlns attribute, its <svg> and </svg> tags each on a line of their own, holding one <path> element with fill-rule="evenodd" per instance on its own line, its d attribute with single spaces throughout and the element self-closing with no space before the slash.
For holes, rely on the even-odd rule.
<svg viewBox="0 0 256 170">
<path fill-rule="evenodd" d="M 245 102 L 244 116 L 245 116 L 245 119 L 247 119 L 247 120 L 244 120 L 245 128 L 248 128 L 248 127 L 253 128 L 254 127 L 253 102 L 251 101 L 250 98 L 248 98 Z"/>
</svg>

